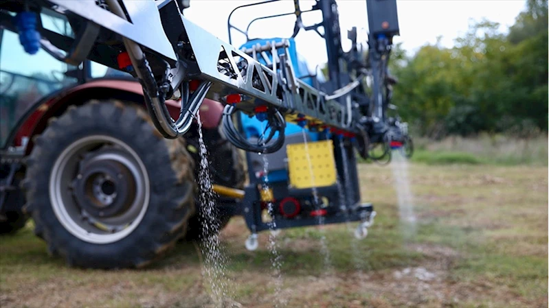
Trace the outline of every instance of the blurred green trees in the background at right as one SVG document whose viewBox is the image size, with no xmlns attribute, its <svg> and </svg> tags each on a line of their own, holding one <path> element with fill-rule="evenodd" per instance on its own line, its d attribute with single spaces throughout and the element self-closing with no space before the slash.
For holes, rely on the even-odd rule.
<svg viewBox="0 0 549 308">
<path fill-rule="evenodd" d="M 399 114 L 416 134 L 432 138 L 545 130 L 547 21 L 547 0 L 527 0 L 506 34 L 484 20 L 452 48 L 441 47 L 440 38 L 413 56 L 394 46 Z"/>
</svg>

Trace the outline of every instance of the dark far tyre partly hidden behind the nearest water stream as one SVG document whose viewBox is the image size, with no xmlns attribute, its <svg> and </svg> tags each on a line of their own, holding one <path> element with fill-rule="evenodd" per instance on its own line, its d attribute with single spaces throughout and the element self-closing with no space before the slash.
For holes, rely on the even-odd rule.
<svg viewBox="0 0 549 308">
<path fill-rule="evenodd" d="M 192 158 L 194 161 L 200 161 L 198 150 L 194 150 L 199 149 L 197 126 L 191 128 L 188 134 L 186 134 L 186 139 L 188 147 L 192 147 L 193 149 L 189 151 Z M 220 128 L 203 129 L 203 139 L 206 150 L 208 150 L 208 167 L 212 182 L 226 187 L 243 189 L 246 174 L 243 157 L 238 153 L 238 149 L 225 139 Z M 198 176 L 198 171 L 199 168 L 195 170 L 195 177 Z M 199 208 L 199 206 L 201 206 L 199 200 L 195 199 L 195 202 L 197 203 L 197 208 Z M 197 214 L 189 221 L 189 228 L 185 239 L 187 241 L 200 241 L 204 237 L 210 237 L 219 233 L 220 230 L 223 230 L 223 228 L 227 226 L 231 217 L 219 213 L 217 220 L 219 222 L 219 228 L 217 230 L 215 230 L 215 228 L 210 228 L 211 232 L 205 234 L 202 228 L 203 222 L 201 222 L 201 217 L 197 211 Z"/>
</svg>

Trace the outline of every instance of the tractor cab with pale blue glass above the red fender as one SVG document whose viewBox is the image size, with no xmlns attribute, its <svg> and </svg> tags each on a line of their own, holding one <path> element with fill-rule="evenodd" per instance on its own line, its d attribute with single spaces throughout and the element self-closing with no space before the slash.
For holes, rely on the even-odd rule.
<svg viewBox="0 0 549 308">
<path fill-rule="evenodd" d="M 39 18 L 45 30 L 74 37 L 65 15 L 44 8 Z M 11 145 L 8 137 L 17 123 L 54 93 L 92 78 L 131 78 L 129 73 L 90 60 L 79 66 L 67 64 L 42 48 L 27 54 L 19 34 L 10 27 L 0 27 L 0 64 L 0 149 Z"/>
</svg>

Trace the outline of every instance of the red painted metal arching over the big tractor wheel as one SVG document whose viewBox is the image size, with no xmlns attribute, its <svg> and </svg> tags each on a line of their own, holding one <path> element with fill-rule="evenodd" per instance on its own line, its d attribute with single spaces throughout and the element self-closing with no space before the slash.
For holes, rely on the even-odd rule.
<svg viewBox="0 0 549 308">
<path fill-rule="evenodd" d="M 94 93 L 100 91 L 115 91 L 120 95 L 124 95 L 124 93 L 127 95 L 143 95 L 141 84 L 130 80 L 93 80 L 85 84 L 67 88 L 65 91 L 56 93 L 55 96 L 47 99 L 47 101 L 38 106 L 38 108 L 25 119 L 16 132 L 13 145 L 21 145 L 21 139 L 23 137 L 29 137 L 32 140 L 34 134 L 40 133 L 43 128 L 45 128 L 47 119 L 55 115 L 56 110 L 64 108 L 69 104 L 74 104 L 74 99 L 78 99 L 79 95 L 85 93 L 86 100 L 93 99 L 96 98 L 93 97 Z M 166 106 L 168 107 L 168 111 L 172 118 L 177 119 L 181 108 L 180 101 L 167 100 Z M 204 128 L 216 128 L 221 122 L 223 105 L 212 99 L 204 99 L 199 112 Z M 29 143 L 30 147 L 32 147 L 31 143 L 32 142 Z M 27 153 L 30 151 L 30 147 L 27 149 Z"/>
</svg>

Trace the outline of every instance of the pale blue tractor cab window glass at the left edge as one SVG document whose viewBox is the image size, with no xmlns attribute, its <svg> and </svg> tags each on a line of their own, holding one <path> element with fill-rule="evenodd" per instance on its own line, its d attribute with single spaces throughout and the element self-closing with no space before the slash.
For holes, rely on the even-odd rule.
<svg viewBox="0 0 549 308">
<path fill-rule="evenodd" d="M 58 16 L 42 13 L 43 26 L 60 34 L 71 36 L 71 27 Z M 0 29 L 0 147 L 17 121 L 38 100 L 65 86 L 76 84 L 76 78 L 65 75 L 77 69 L 49 56 L 40 49 L 27 54 L 19 35 Z"/>
</svg>

